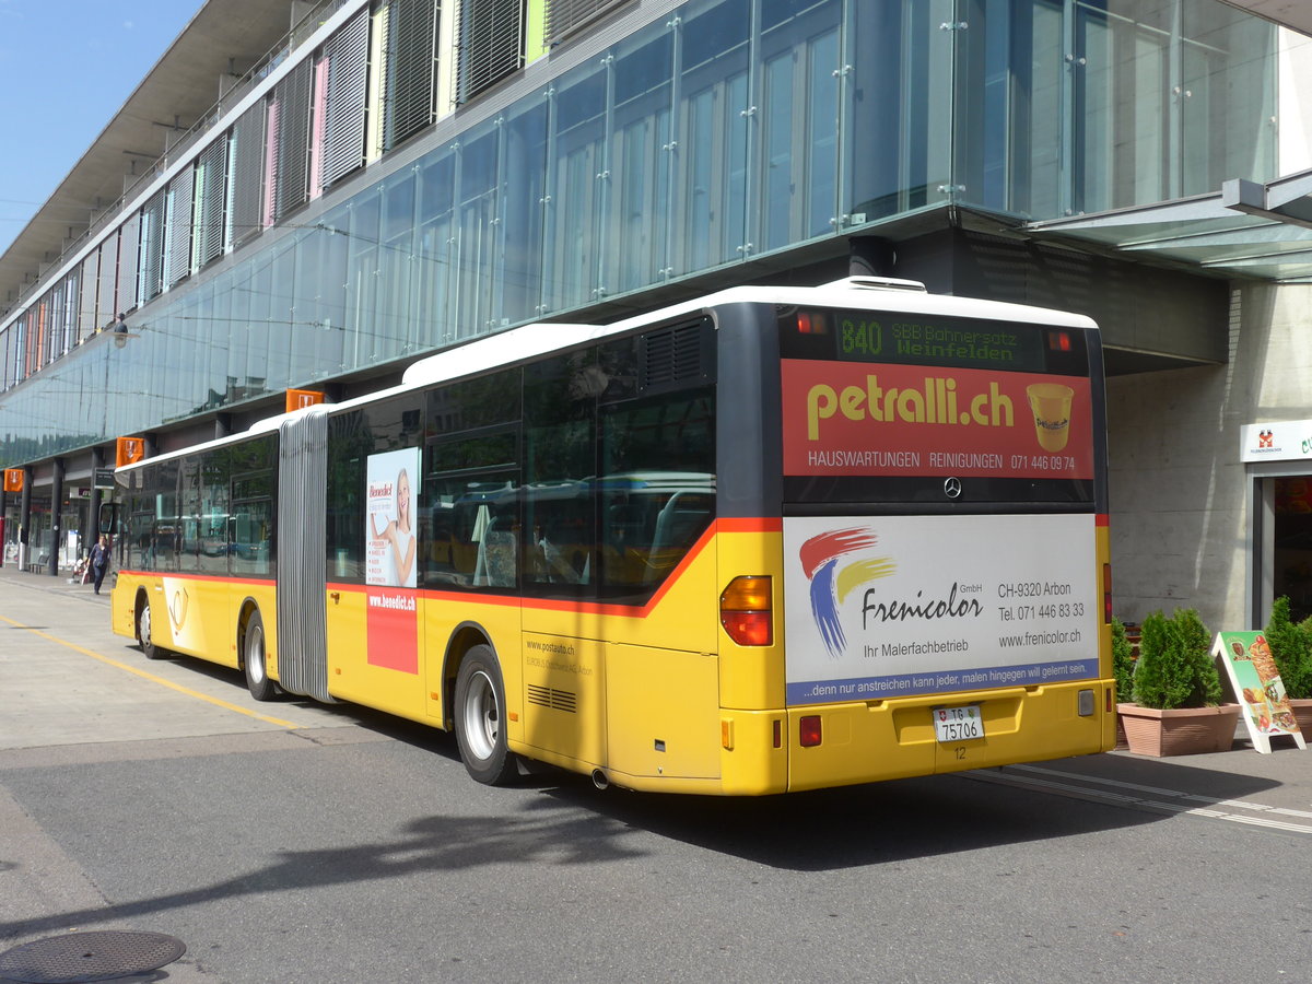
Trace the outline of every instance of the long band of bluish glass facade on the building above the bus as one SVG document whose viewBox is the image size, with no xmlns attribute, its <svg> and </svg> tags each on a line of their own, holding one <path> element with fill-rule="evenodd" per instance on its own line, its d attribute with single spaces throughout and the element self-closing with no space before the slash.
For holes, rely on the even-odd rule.
<svg viewBox="0 0 1312 984">
<path fill-rule="evenodd" d="M 922 209 L 1050 219 L 1269 181 L 1275 70 L 1275 28 L 1219 0 L 691 0 L 163 293 L 168 240 L 125 247 L 148 303 L 122 346 L 81 340 L 79 283 L 38 295 L 0 332 L 0 461 Z M 72 276 L 109 282 L 108 256 Z"/>
</svg>

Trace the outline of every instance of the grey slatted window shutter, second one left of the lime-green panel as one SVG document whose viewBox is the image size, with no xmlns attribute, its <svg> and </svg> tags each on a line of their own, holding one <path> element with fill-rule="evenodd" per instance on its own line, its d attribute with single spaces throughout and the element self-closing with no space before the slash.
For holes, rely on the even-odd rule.
<svg viewBox="0 0 1312 984">
<path fill-rule="evenodd" d="M 383 41 L 383 150 L 391 150 L 433 122 L 437 71 L 434 0 L 392 0 Z"/>
</svg>

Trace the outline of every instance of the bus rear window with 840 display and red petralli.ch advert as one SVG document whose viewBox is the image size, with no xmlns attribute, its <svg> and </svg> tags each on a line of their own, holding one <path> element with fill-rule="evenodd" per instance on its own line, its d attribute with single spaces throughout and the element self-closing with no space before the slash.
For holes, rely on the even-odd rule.
<svg viewBox="0 0 1312 984">
<path fill-rule="evenodd" d="M 779 348 L 787 502 L 1094 500 L 1085 329 L 791 308 Z"/>
</svg>

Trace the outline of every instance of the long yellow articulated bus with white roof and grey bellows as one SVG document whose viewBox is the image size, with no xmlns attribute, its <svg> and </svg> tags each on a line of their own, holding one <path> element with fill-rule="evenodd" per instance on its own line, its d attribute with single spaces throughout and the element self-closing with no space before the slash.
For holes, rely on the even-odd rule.
<svg viewBox="0 0 1312 984">
<path fill-rule="evenodd" d="M 117 471 L 114 630 L 598 786 L 1115 744 L 1102 350 L 907 281 L 534 324 Z"/>
</svg>

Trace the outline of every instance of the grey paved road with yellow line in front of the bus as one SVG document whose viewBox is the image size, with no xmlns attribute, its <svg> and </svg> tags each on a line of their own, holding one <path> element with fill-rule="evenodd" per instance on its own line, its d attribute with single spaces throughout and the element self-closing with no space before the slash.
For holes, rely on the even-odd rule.
<svg viewBox="0 0 1312 984">
<path fill-rule="evenodd" d="M 1117 753 L 766 800 L 464 775 L 440 732 L 147 661 L 0 569 L 0 951 L 140 980 L 1312 979 L 1312 753 Z"/>
</svg>

